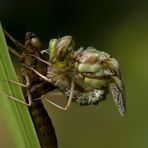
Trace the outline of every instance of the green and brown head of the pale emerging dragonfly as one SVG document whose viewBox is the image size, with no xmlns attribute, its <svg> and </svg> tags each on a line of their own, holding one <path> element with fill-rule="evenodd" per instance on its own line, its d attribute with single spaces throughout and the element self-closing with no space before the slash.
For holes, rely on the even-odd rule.
<svg viewBox="0 0 148 148">
<path fill-rule="evenodd" d="M 60 39 L 52 39 L 49 42 L 49 60 L 55 66 L 64 68 L 73 52 L 74 41 L 71 36 L 64 36 Z"/>
</svg>

